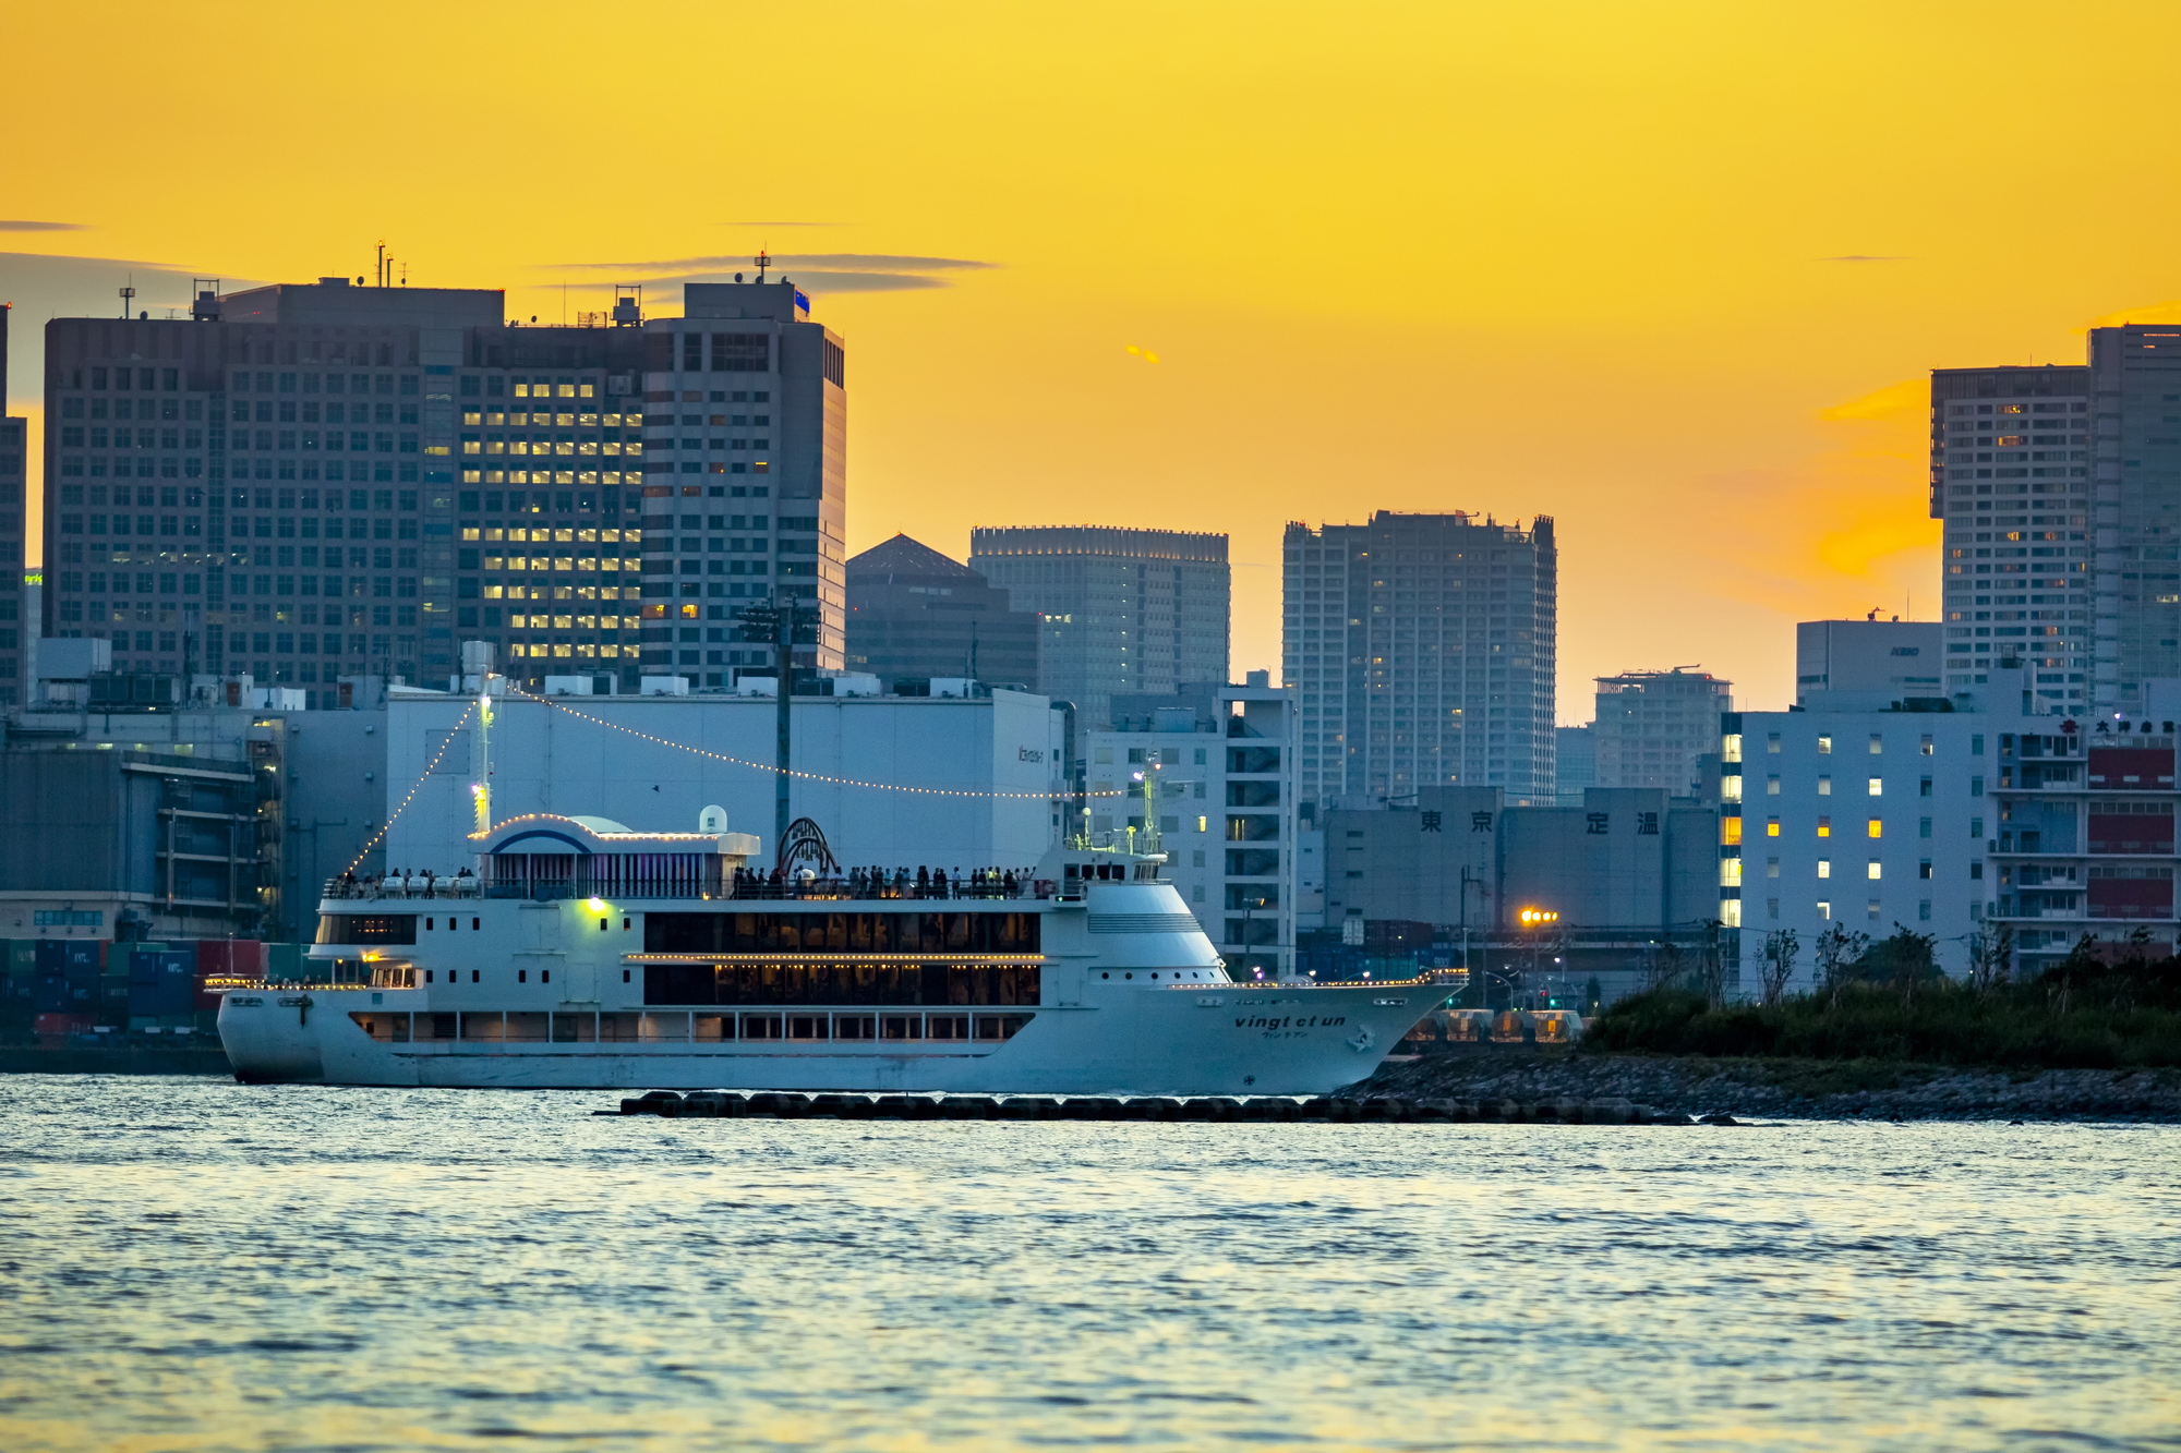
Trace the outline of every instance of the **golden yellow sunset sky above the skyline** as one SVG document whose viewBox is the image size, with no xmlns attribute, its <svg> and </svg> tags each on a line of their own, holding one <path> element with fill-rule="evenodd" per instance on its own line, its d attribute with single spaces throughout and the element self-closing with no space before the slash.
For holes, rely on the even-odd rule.
<svg viewBox="0 0 2181 1453">
<path fill-rule="evenodd" d="M 1285 521 L 1549 513 L 1562 722 L 1677 663 L 1775 707 L 1795 620 L 1935 611 L 1928 369 L 2177 316 L 2177 41 L 2004 0 L 24 7 L 9 384 L 131 266 L 164 308 L 384 238 L 552 321 L 768 247 L 848 338 L 855 550 L 1226 530 L 1237 679 L 1278 679 Z"/>
</svg>

